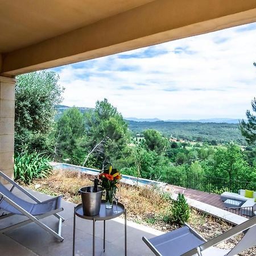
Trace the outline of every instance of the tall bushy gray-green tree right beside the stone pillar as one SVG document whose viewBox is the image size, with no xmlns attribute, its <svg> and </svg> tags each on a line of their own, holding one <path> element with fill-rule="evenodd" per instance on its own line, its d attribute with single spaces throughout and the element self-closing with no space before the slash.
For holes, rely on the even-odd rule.
<svg viewBox="0 0 256 256">
<path fill-rule="evenodd" d="M 55 105 L 63 91 L 55 72 L 32 72 L 16 77 L 15 86 L 15 152 L 44 150 L 52 152 L 51 137 Z"/>
</svg>

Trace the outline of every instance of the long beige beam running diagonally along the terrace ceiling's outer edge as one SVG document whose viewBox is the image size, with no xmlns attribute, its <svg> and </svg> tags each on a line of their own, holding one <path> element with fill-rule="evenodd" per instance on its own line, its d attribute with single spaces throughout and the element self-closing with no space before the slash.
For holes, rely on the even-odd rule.
<svg viewBox="0 0 256 256">
<path fill-rule="evenodd" d="M 57 67 L 255 21 L 255 0 L 155 0 L 5 53 L 0 75 Z"/>
</svg>

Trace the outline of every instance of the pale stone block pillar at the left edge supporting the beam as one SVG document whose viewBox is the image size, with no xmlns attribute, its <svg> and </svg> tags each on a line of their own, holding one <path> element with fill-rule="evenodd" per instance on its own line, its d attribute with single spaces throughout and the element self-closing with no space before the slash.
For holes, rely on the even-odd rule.
<svg viewBox="0 0 256 256">
<path fill-rule="evenodd" d="M 15 79 L 0 76 L 0 170 L 13 179 Z"/>
</svg>

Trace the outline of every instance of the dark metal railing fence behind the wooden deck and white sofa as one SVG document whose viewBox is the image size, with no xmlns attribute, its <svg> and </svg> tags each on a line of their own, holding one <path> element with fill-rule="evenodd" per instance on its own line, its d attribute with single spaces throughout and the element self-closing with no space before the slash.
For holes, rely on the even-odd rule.
<svg viewBox="0 0 256 256">
<path fill-rule="evenodd" d="M 203 174 L 193 174 L 168 170 L 160 177 L 161 181 L 179 187 L 196 189 L 209 193 L 222 193 L 230 191 L 237 193 L 239 189 L 250 189 L 256 191 L 256 183 L 241 180 L 232 180 L 222 177 L 213 177 Z"/>
</svg>

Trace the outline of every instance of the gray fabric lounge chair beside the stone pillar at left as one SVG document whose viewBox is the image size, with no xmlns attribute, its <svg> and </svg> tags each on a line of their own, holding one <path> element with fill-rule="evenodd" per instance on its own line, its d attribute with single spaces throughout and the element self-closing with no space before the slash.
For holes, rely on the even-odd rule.
<svg viewBox="0 0 256 256">
<path fill-rule="evenodd" d="M 36 197 L 31 195 L 31 193 L 26 191 L 24 188 L 20 187 L 20 185 L 11 180 L 8 176 L 3 174 L 3 172 L 1 171 L 0 177 L 3 177 L 3 179 L 7 180 L 11 185 L 13 185 L 9 190 L 5 185 L 0 182 L 0 209 L 2 209 L 4 212 L 7 212 L 5 214 L 2 214 L 0 220 L 6 217 L 10 217 L 14 214 L 23 215 L 28 218 L 25 221 L 0 229 L 0 233 L 19 228 L 20 226 L 26 225 L 31 222 L 35 222 L 41 228 L 56 237 L 58 240 L 63 241 L 64 238 L 61 237 L 61 223 L 64 221 L 64 218 L 57 214 L 58 212 L 61 212 L 63 210 L 63 208 L 60 207 L 61 197 L 63 196 L 57 196 L 47 201 L 40 201 Z M 30 197 L 30 199 L 34 200 L 35 203 L 30 203 L 28 201 L 20 199 L 18 196 L 15 196 L 13 193 L 14 188 L 19 189 L 25 195 Z M 51 216 L 52 214 L 59 218 L 58 233 L 56 233 L 40 221 L 42 218 Z"/>
</svg>

